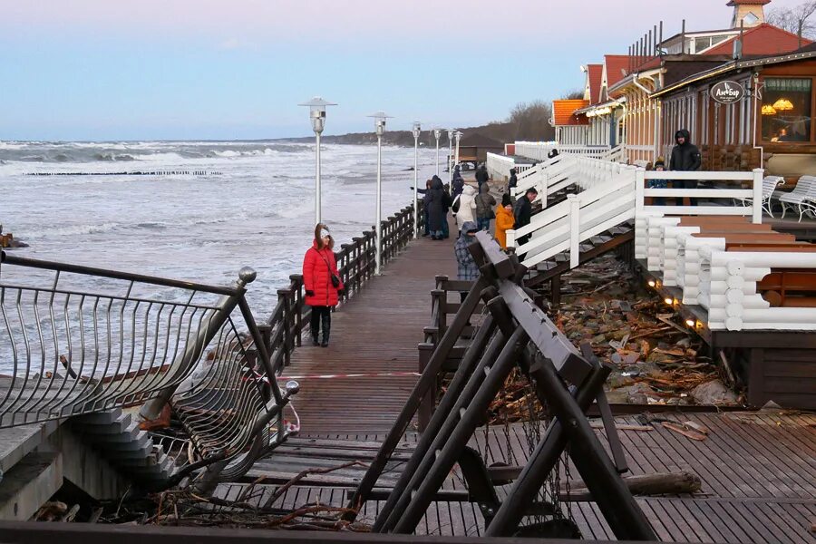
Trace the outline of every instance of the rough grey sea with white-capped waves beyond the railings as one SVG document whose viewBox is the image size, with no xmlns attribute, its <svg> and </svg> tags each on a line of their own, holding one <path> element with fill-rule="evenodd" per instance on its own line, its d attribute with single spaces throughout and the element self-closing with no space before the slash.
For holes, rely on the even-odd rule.
<svg viewBox="0 0 816 544">
<path fill-rule="evenodd" d="M 374 225 L 377 150 L 321 149 L 323 220 L 340 244 Z M 413 199 L 414 151 L 386 146 L 382 158 L 388 217 Z M 418 170 L 424 187 L 435 150 L 420 149 Z M 314 144 L 0 141 L 0 224 L 29 245 L 15 255 L 214 285 L 252 267 L 258 320 L 300 273 L 314 199 Z"/>
</svg>

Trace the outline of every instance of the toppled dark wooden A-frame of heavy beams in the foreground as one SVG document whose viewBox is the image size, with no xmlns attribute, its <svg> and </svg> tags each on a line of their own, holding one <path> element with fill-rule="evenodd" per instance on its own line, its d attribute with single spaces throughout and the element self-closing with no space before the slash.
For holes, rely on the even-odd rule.
<svg viewBox="0 0 816 544">
<path fill-rule="evenodd" d="M 566 454 L 617 539 L 656 539 L 620 477 L 620 472 L 627 471 L 626 459 L 603 391 L 611 369 L 597 361 L 588 345 L 579 353 L 535 304 L 522 285 L 526 268 L 518 258 L 503 253 L 487 233 L 479 233 L 476 238 L 470 250 L 481 276 L 434 345 L 403 411 L 350 500 L 350 511 L 359 511 L 366 500 L 372 499 L 374 485 L 423 398 L 434 394 L 433 384 L 482 302 L 485 315 L 416 442 L 411 459 L 404 464 L 388 500 L 377 509 L 374 532 L 412 534 L 443 481 L 458 464 L 469 498 L 485 520 L 486 536 L 567 536 L 559 530 L 577 536 L 578 528 L 569 519 L 570 510 L 561 509 L 559 492 L 553 491 L 559 463 Z M 529 461 L 494 478 L 492 468 L 468 442 L 514 369 L 526 376 L 539 413 L 546 414 L 549 421 L 540 434 L 528 436 Z M 611 458 L 586 417 L 592 403 L 597 403 L 604 420 Z M 509 474 L 514 481 L 504 500 L 500 500 L 497 487 L 506 483 L 502 480 Z M 354 513 L 345 515 L 346 520 L 354 518 Z M 541 522 L 529 523 L 530 519 Z"/>
</svg>

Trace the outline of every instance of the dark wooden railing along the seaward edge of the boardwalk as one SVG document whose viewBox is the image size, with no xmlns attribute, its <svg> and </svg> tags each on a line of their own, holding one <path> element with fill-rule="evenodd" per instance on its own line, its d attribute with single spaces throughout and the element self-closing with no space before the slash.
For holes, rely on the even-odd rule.
<svg viewBox="0 0 816 544">
<path fill-rule="evenodd" d="M 419 214 L 422 226 L 423 214 Z M 407 245 L 413 236 L 413 206 L 409 205 L 383 221 L 383 265 L 387 265 Z M 342 244 L 335 252 L 337 270 L 343 279 L 345 292 L 340 297 L 342 306 L 359 293 L 366 282 L 374 277 L 376 235 L 374 227 L 362 236 L 352 238 L 350 244 Z M 309 325 L 311 308 L 304 303 L 303 276 L 289 277 L 289 285 L 277 291 L 277 305 L 263 325 L 267 350 L 271 354 L 272 367 L 280 374 L 292 360 L 296 347 L 302 345 L 303 330 Z"/>
</svg>

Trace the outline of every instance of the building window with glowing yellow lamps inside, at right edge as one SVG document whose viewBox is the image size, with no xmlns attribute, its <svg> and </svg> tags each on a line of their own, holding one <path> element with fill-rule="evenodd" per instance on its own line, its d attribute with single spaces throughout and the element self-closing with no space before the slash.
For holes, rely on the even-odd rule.
<svg viewBox="0 0 816 544">
<path fill-rule="evenodd" d="M 811 141 L 812 80 L 766 78 L 763 141 Z"/>
</svg>

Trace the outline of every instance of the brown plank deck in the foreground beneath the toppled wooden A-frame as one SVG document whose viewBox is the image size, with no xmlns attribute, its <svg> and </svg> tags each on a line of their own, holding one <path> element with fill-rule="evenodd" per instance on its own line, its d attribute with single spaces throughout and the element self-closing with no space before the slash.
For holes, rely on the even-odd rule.
<svg viewBox="0 0 816 544">
<path fill-rule="evenodd" d="M 669 416 L 674 417 L 674 416 Z M 700 493 L 691 496 L 639 498 L 646 517 L 664 541 L 676 542 L 785 542 L 813 541 L 811 524 L 816 520 L 816 416 L 784 412 L 685 414 L 709 429 L 702 442 L 690 440 L 659 423 L 652 431 L 624 428 L 621 440 L 632 474 L 691 471 L 703 481 Z M 634 417 L 619 417 L 617 423 L 638 425 Z M 598 431 L 600 432 L 600 431 Z M 370 461 L 381 435 L 332 435 L 303 437 L 260 461 L 246 476 L 247 481 L 267 477 L 270 485 L 257 486 L 251 501 L 266 500 L 277 485 L 309 466 L 337 466 L 355 452 L 359 461 Z M 398 450 L 394 465 L 378 483 L 386 489 L 393 483 L 398 461 L 416 440 L 409 433 Z M 508 449 L 510 444 L 510 450 Z M 471 445 L 487 452 L 488 463 L 523 463 L 528 457 L 527 440 L 521 424 L 481 429 Z M 311 453 L 307 450 L 312 450 Z M 324 454 L 317 453 L 323 449 Z M 299 452 L 297 452 L 299 450 Z M 312 456 L 310 458 L 310 456 Z M 310 464 L 311 463 L 311 464 Z M 572 468 L 571 474 L 577 474 Z M 291 488 L 278 506 L 294 508 L 319 501 L 342 506 L 362 468 L 349 468 L 326 475 L 306 477 L 303 485 Z M 566 474 L 562 473 L 565 481 Z M 311 480 L 310 480 L 311 478 Z M 229 484 L 219 496 L 236 498 L 246 484 Z M 500 488 L 506 492 L 507 487 Z M 480 510 L 463 495 L 458 472 L 445 482 L 448 497 L 432 504 L 417 531 L 425 535 L 480 536 L 484 520 Z M 378 499 L 384 499 L 381 494 Z M 360 519 L 371 523 L 382 506 L 372 500 Z M 585 539 L 614 539 L 593 502 L 568 503 Z M 566 503 L 563 506 L 566 508 Z"/>
</svg>

